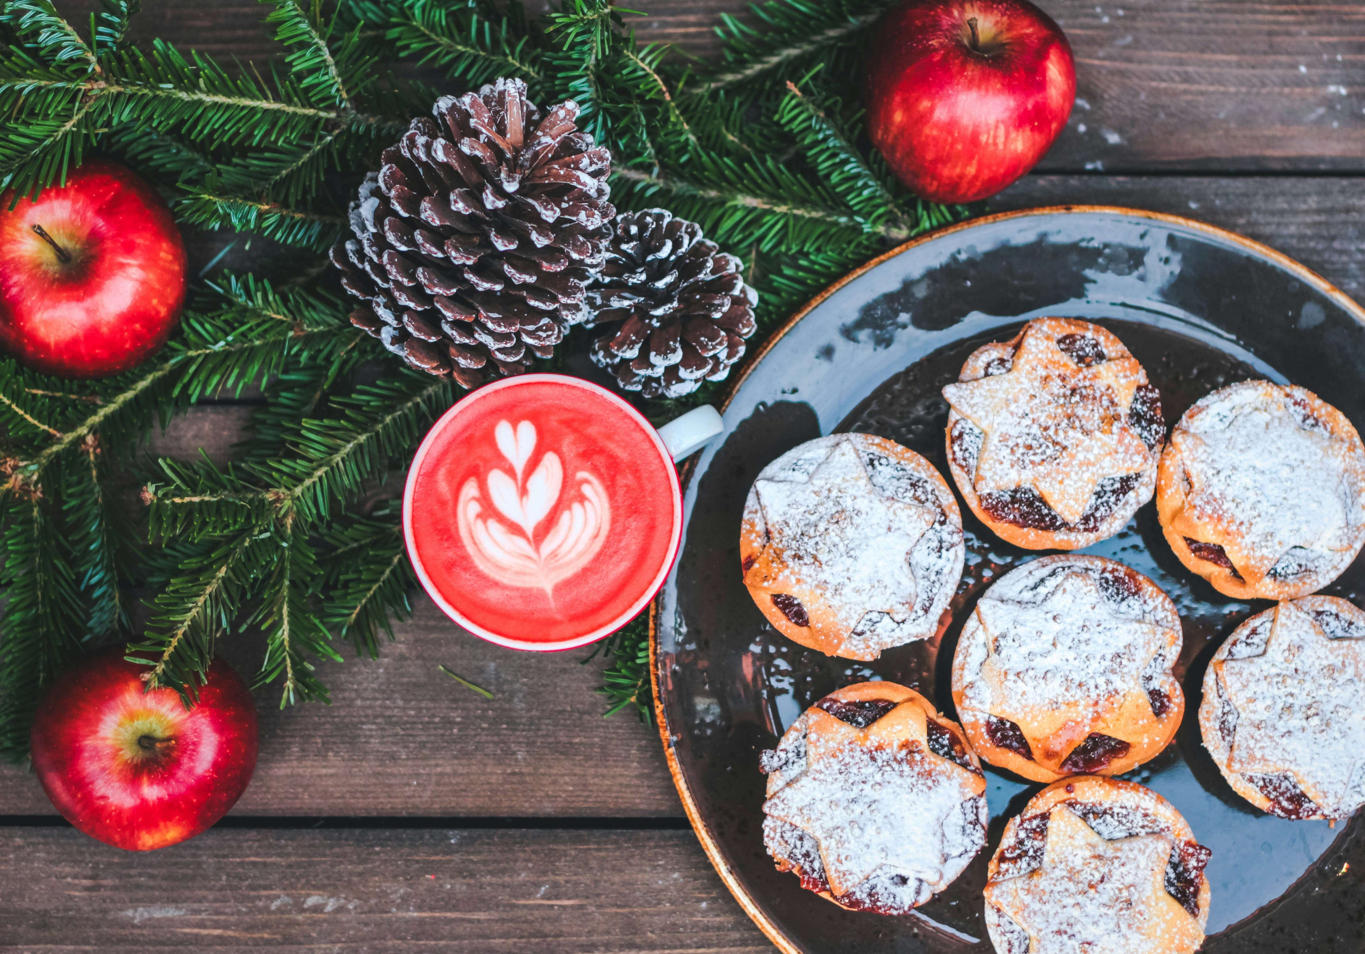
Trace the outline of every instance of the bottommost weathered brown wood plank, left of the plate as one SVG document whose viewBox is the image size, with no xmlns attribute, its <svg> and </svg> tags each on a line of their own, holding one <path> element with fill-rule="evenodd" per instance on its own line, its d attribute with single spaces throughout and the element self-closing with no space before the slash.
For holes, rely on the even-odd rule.
<svg viewBox="0 0 1365 954">
<path fill-rule="evenodd" d="M 0 950 L 758 954 L 691 831 L 0 830 Z"/>
</svg>

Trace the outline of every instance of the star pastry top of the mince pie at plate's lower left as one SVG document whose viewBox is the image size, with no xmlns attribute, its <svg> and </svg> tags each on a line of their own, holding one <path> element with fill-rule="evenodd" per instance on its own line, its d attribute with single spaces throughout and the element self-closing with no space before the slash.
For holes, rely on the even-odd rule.
<svg viewBox="0 0 1365 954">
<path fill-rule="evenodd" d="M 984 844 L 984 830 L 962 825 L 962 803 L 986 792 L 986 778 L 930 751 L 915 702 L 864 729 L 819 709 L 805 716 L 805 770 L 763 812 L 815 838 L 835 897 L 883 868 L 945 887 L 945 864 Z"/>
</svg>

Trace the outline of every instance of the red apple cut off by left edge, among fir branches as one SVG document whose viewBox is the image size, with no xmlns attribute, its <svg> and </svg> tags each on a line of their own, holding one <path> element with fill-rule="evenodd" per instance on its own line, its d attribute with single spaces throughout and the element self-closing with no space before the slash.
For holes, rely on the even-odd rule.
<svg viewBox="0 0 1365 954">
<path fill-rule="evenodd" d="M 161 196 L 91 159 L 10 209 L 0 198 L 0 345 L 63 378 L 127 371 L 161 348 L 184 304 L 184 243 Z"/>
</svg>

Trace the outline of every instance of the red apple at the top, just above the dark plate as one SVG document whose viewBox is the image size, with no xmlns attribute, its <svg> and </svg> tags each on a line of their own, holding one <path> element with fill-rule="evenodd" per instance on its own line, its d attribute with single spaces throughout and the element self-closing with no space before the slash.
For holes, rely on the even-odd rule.
<svg viewBox="0 0 1365 954">
<path fill-rule="evenodd" d="M 906 0 L 872 31 L 867 131 L 934 202 L 976 202 L 1032 169 L 1076 99 L 1072 45 L 1028 0 Z"/>
</svg>

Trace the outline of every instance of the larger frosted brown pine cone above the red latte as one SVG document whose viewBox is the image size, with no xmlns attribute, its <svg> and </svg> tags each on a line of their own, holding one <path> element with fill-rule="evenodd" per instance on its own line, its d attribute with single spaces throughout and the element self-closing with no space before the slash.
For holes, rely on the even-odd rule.
<svg viewBox="0 0 1365 954">
<path fill-rule="evenodd" d="M 550 357 L 590 316 L 584 289 L 616 215 L 612 155 L 575 127 L 577 104 L 542 119 L 519 79 L 442 97 L 433 113 L 384 150 L 332 262 L 364 303 L 355 326 L 476 387 Z"/>
</svg>

